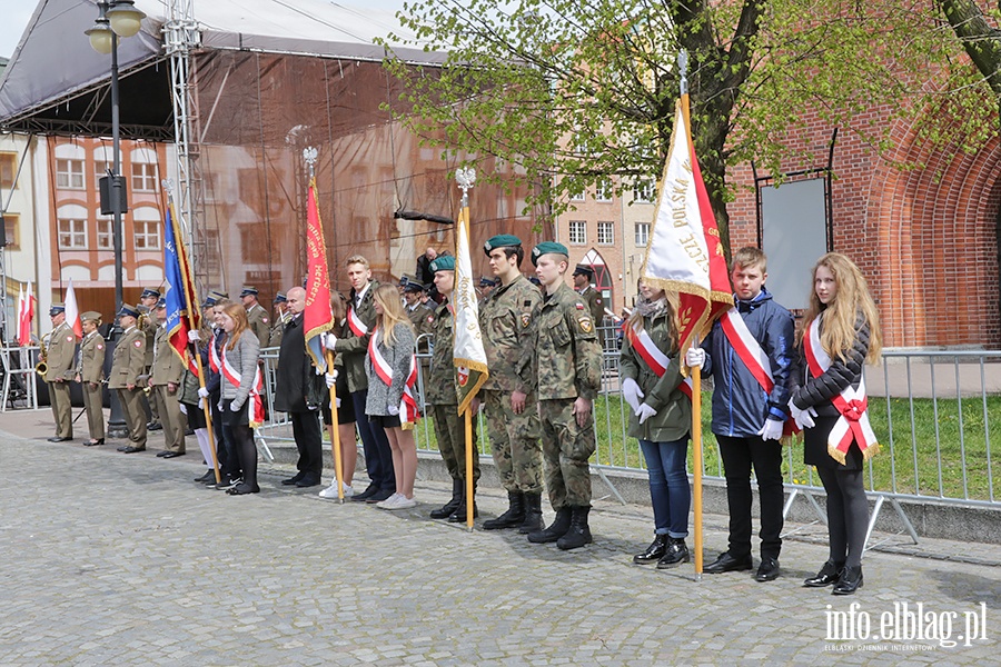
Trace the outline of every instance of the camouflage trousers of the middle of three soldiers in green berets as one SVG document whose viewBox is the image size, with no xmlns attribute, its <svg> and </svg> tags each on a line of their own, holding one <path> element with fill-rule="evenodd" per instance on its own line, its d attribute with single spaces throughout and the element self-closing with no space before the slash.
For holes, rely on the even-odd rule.
<svg viewBox="0 0 1001 667">
<path fill-rule="evenodd" d="M 515 415 L 511 409 L 511 394 L 482 391 L 479 396 L 500 485 L 508 491 L 542 494 L 542 448 L 535 397 L 529 395 L 525 399 L 525 409 Z"/>
</svg>

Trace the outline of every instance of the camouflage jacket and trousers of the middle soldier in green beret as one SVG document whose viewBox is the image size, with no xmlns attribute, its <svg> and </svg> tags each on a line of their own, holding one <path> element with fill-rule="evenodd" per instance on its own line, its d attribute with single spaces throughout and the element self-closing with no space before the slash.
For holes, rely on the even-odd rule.
<svg viewBox="0 0 1001 667">
<path fill-rule="evenodd" d="M 494 462 L 508 491 L 542 494 L 542 451 L 535 409 L 532 356 L 532 313 L 542 293 L 518 276 L 496 288 L 479 311 L 479 328 L 490 377 L 480 390 Z M 511 395 L 527 395 L 525 409 L 515 415 Z"/>
</svg>

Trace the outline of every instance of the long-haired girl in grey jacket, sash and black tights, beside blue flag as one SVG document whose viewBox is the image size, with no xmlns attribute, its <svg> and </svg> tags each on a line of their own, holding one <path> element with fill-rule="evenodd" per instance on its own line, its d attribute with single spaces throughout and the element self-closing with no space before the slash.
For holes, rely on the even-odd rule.
<svg viewBox="0 0 1001 667">
<path fill-rule="evenodd" d="M 228 489 L 230 496 L 260 492 L 257 485 L 257 447 L 254 429 L 264 422 L 260 367 L 260 341 L 247 321 L 247 310 L 230 303 L 222 310 L 222 329 L 227 334 L 221 354 L 222 424 L 232 435 L 240 459 L 244 480 Z"/>
</svg>

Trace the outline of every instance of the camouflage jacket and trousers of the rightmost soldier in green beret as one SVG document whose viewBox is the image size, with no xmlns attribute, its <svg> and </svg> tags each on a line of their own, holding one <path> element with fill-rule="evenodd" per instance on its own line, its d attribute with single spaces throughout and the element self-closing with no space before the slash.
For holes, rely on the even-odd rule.
<svg viewBox="0 0 1001 667">
<path fill-rule="evenodd" d="M 577 397 L 593 401 L 601 390 L 602 347 L 591 312 L 565 283 L 543 301 L 535 319 L 538 414 L 549 502 L 556 510 L 587 507 L 587 459 L 596 447 L 594 420 L 577 426 L 573 408 Z"/>
</svg>

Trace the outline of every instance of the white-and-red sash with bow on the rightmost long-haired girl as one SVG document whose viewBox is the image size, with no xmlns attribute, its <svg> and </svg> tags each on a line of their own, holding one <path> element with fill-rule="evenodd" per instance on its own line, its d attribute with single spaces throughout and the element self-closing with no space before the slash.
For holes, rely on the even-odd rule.
<svg viewBox="0 0 1001 667">
<path fill-rule="evenodd" d="M 803 347 L 806 352 L 806 364 L 810 375 L 821 377 L 831 368 L 831 357 L 824 350 L 820 341 L 820 318 L 810 322 L 809 336 L 803 337 Z M 868 459 L 879 451 L 879 442 L 872 425 L 869 424 L 869 398 L 865 396 L 865 377 L 859 382 L 858 389 L 849 385 L 844 390 L 831 399 L 841 417 L 834 422 L 834 428 L 827 436 L 827 454 L 838 462 L 844 465 L 844 456 L 854 440 L 862 450 L 862 457 Z"/>
</svg>

